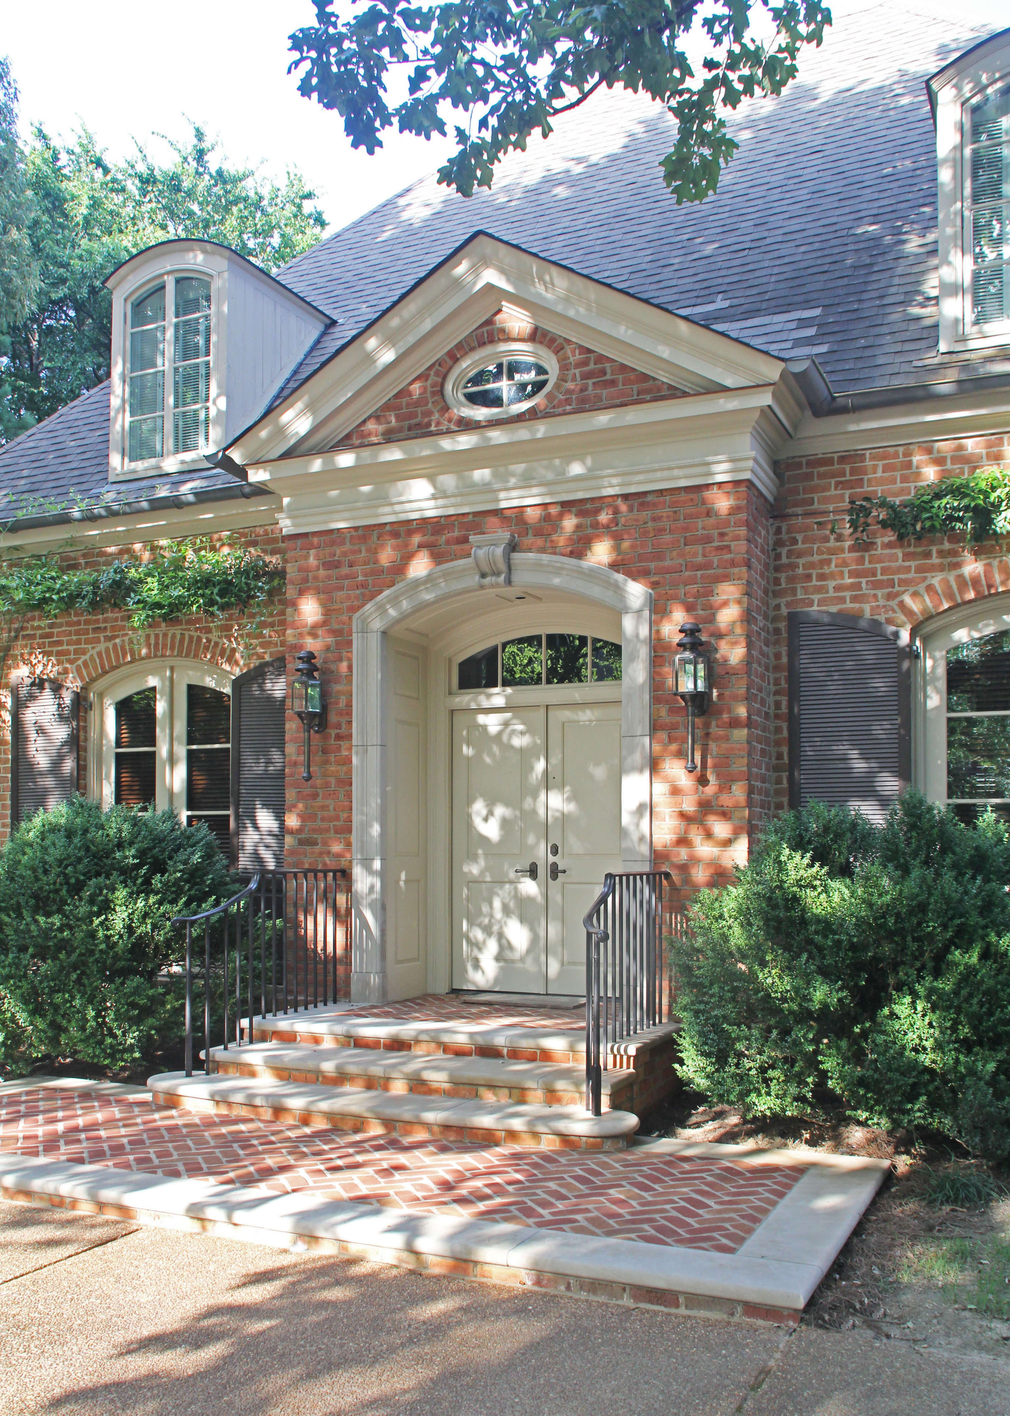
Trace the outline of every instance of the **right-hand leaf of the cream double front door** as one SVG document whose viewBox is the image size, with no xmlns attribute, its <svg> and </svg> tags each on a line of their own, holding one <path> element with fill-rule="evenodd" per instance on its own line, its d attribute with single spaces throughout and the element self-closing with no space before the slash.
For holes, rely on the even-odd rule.
<svg viewBox="0 0 1010 1416">
<path fill-rule="evenodd" d="M 547 709 L 547 993 L 585 993 L 582 919 L 620 869 L 620 704 Z M 557 847 L 557 855 L 551 854 Z"/>
</svg>

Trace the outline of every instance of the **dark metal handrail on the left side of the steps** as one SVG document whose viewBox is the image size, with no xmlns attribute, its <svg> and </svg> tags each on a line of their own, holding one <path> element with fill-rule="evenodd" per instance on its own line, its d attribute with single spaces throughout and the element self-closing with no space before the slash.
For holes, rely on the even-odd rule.
<svg viewBox="0 0 1010 1416">
<path fill-rule="evenodd" d="M 242 994 L 245 993 L 246 1041 L 252 1020 L 297 1012 L 337 1001 L 340 964 L 348 960 L 347 869 L 259 871 L 231 899 L 200 915 L 178 915 L 186 925 L 186 1075 L 193 1076 L 193 930 L 204 926 L 204 1058 L 211 1051 L 220 984 L 221 1044 L 242 1046 Z M 337 896 L 344 903 L 343 950 L 337 949 Z M 244 918 L 245 916 L 245 918 Z M 232 947 L 234 935 L 234 947 Z M 245 939 L 245 946 L 244 946 Z M 245 959 L 242 957 L 245 954 Z M 245 977 L 244 977 L 245 976 Z M 232 988 L 234 984 L 234 988 Z M 245 984 L 245 988 L 244 988 Z M 322 986 L 322 987 L 320 987 Z M 234 1008 L 232 1008 L 234 1004 Z M 269 1004 L 269 1010 L 268 1010 Z"/>
</svg>

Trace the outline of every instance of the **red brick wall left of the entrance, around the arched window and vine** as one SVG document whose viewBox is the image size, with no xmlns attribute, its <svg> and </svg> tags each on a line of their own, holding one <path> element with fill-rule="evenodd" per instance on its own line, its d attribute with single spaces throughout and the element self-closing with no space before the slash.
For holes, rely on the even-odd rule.
<svg viewBox="0 0 1010 1416">
<path fill-rule="evenodd" d="M 218 538 L 215 538 L 218 539 Z M 262 528 L 239 531 L 229 537 L 237 545 L 248 545 L 275 559 L 283 559 L 285 547 L 279 531 Z M 86 569 L 123 556 L 143 556 L 146 544 L 110 547 L 84 554 L 64 554 L 58 561 L 65 568 Z M 285 598 L 276 593 L 272 613 L 252 643 L 244 643 L 241 616 L 221 620 L 193 616 L 167 626 L 136 630 L 122 610 L 105 615 L 59 615 L 47 620 L 33 615 L 14 640 L 4 664 L 0 695 L 0 841 L 10 834 L 10 683 L 11 675 L 25 667 L 59 683 L 72 684 L 81 692 L 81 731 L 78 752 L 78 784 L 88 782 L 88 687 L 123 664 L 152 658 L 191 658 L 239 673 L 262 658 L 283 653 Z"/>
</svg>

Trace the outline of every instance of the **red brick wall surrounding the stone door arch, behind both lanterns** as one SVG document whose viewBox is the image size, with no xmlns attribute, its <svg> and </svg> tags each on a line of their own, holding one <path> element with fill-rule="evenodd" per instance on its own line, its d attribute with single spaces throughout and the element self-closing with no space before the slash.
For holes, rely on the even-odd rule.
<svg viewBox="0 0 1010 1416">
<path fill-rule="evenodd" d="M 300 777 L 302 735 L 288 729 L 288 862 L 350 854 L 351 617 L 398 578 L 470 554 L 473 532 L 514 531 L 517 551 L 608 565 L 654 596 L 654 847 L 681 889 L 728 878 L 747 858 L 748 756 L 764 719 L 766 685 L 752 683 L 748 624 L 766 589 L 748 558 L 748 535 L 768 541 L 766 504 L 745 483 L 633 497 L 557 503 L 526 511 L 364 527 L 292 537 L 288 547 L 288 649 L 320 656 L 330 728 L 313 739 L 313 780 Z M 698 765 L 684 772 L 686 714 L 670 675 L 680 626 L 697 619 L 717 650 L 715 702 L 698 725 Z M 761 670 L 766 674 L 766 660 Z M 766 716 L 766 714 L 765 714 Z M 766 732 L 766 728 L 762 731 Z"/>
</svg>

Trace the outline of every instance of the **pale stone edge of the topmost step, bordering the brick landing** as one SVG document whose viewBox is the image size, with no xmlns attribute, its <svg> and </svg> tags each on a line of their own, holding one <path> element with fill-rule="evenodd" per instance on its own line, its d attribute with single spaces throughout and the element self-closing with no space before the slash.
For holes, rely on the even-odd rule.
<svg viewBox="0 0 1010 1416">
<path fill-rule="evenodd" d="M 299 1034 L 305 1037 L 337 1037 L 377 1042 L 435 1042 L 477 1048 L 501 1048 L 526 1052 L 568 1052 L 585 1055 L 582 1028 L 527 1028 L 480 1022 L 407 1022 L 398 1018 L 354 1018 L 326 1012 L 319 1008 L 278 1017 L 254 1018 L 255 1032 Z M 616 1045 L 618 1052 L 640 1046 L 679 1031 L 679 1024 L 663 1022 Z"/>
</svg>

